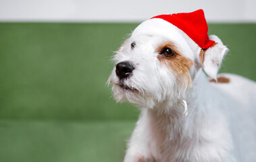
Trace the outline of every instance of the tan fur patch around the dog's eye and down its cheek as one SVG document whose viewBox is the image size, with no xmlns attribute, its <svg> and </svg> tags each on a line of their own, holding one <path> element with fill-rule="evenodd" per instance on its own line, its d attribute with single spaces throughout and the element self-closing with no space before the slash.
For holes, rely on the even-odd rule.
<svg viewBox="0 0 256 162">
<path fill-rule="evenodd" d="M 181 55 L 178 48 L 174 45 L 174 43 L 167 41 L 162 43 L 157 47 L 156 52 L 161 53 L 164 48 L 170 48 L 174 51 L 175 55 L 173 57 L 165 57 L 164 55 L 158 55 L 157 59 L 160 63 L 163 63 L 169 66 L 173 71 L 174 75 L 177 76 L 179 80 L 182 81 L 182 88 L 186 88 L 186 86 L 192 86 L 192 80 L 189 73 L 191 66 L 194 64 L 191 59 L 188 59 Z"/>
</svg>

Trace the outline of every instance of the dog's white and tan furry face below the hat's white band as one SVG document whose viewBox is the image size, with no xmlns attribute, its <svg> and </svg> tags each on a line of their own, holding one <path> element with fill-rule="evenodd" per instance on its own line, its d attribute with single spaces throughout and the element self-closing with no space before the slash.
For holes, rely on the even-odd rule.
<svg viewBox="0 0 256 162">
<path fill-rule="evenodd" d="M 143 34 L 128 38 L 113 57 L 109 77 L 118 102 L 154 107 L 176 101 L 192 86 L 193 55 L 186 55 L 172 40 Z"/>
</svg>

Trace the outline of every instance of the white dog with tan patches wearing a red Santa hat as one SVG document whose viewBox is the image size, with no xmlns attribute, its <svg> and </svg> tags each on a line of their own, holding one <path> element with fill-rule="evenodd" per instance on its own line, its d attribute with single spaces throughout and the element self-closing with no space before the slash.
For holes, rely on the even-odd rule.
<svg viewBox="0 0 256 162">
<path fill-rule="evenodd" d="M 227 51 L 208 37 L 201 9 L 157 16 L 132 32 L 109 77 L 116 101 L 141 110 L 125 162 L 256 161 L 256 84 L 217 77 Z"/>
</svg>

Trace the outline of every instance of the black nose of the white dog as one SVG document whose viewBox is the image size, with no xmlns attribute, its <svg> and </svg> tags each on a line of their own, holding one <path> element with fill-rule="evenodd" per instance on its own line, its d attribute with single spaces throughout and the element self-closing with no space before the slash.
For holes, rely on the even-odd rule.
<svg viewBox="0 0 256 162">
<path fill-rule="evenodd" d="M 120 80 L 124 78 L 128 78 L 132 71 L 134 70 L 134 66 L 129 61 L 122 61 L 116 64 L 116 75 Z"/>
</svg>

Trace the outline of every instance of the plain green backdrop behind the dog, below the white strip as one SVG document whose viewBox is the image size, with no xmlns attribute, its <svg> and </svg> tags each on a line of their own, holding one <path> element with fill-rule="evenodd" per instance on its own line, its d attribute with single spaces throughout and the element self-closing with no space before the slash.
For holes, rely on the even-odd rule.
<svg viewBox="0 0 256 162">
<path fill-rule="evenodd" d="M 138 118 L 106 86 L 138 24 L 0 23 L 0 161 L 122 161 Z M 256 24 L 209 24 L 221 72 L 256 80 Z"/>
</svg>

